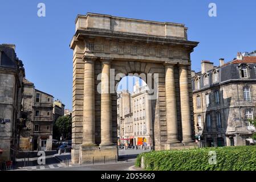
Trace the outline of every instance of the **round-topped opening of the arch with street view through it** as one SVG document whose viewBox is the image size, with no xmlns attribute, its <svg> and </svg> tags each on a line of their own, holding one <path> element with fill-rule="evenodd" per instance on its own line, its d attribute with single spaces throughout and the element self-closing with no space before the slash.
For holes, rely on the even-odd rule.
<svg viewBox="0 0 256 182">
<path fill-rule="evenodd" d="M 153 146 L 152 101 L 147 83 L 125 76 L 117 85 L 117 145 L 123 150 L 150 151 Z M 131 153 L 131 152 L 129 152 Z"/>
</svg>

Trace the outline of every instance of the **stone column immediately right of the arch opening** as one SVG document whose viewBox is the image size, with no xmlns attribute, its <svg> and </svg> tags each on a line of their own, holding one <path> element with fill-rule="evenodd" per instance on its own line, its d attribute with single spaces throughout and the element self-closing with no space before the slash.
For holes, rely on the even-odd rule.
<svg viewBox="0 0 256 182">
<path fill-rule="evenodd" d="M 167 144 L 180 142 L 178 140 L 178 123 L 173 66 L 173 64 L 165 64 Z"/>
</svg>

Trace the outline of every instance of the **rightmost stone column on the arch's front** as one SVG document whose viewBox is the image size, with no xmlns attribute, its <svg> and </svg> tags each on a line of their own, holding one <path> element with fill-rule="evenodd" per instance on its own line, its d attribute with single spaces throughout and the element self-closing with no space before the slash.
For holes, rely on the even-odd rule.
<svg viewBox="0 0 256 182">
<path fill-rule="evenodd" d="M 188 88 L 188 66 L 180 65 L 180 98 L 181 98 L 181 122 L 182 143 L 193 142 L 190 118 L 189 88 Z"/>
</svg>

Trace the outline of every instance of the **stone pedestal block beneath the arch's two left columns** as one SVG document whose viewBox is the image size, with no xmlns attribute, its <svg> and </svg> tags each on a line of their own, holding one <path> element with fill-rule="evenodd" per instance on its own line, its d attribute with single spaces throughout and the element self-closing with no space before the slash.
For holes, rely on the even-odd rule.
<svg viewBox="0 0 256 182">
<path fill-rule="evenodd" d="M 113 162 L 118 158 L 116 145 L 112 146 L 80 146 L 80 162 L 82 164 Z"/>
</svg>

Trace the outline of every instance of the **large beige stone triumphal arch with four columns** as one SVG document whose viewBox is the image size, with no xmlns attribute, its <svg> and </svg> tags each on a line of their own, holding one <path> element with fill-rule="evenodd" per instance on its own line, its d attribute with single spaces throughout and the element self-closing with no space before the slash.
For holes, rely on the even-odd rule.
<svg viewBox="0 0 256 182">
<path fill-rule="evenodd" d="M 155 150 L 194 146 L 190 53 L 184 24 L 87 13 L 75 20 L 72 162 L 117 157 L 115 86 L 145 73 L 152 84 Z M 114 92 L 113 92 L 114 90 Z"/>
</svg>

